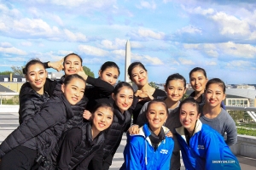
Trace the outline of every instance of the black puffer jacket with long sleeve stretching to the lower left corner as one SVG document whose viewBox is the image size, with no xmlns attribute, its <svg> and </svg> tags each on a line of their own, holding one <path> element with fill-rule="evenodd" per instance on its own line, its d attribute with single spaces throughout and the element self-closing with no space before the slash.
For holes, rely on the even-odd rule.
<svg viewBox="0 0 256 170">
<path fill-rule="evenodd" d="M 49 158 L 50 151 L 61 138 L 65 123 L 72 117 L 72 108 L 64 95 L 60 98 L 49 99 L 40 112 L 20 124 L 3 141 L 0 145 L 0 158 L 35 137 L 38 143 L 38 154 Z"/>
</svg>

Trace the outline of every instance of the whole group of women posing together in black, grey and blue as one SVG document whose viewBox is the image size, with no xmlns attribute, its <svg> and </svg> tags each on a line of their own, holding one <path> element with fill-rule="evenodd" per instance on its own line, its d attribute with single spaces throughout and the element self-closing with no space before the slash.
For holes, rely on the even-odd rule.
<svg viewBox="0 0 256 170">
<path fill-rule="evenodd" d="M 128 68 L 134 92 L 127 82 L 114 87 L 114 62 L 104 63 L 98 78 L 86 75 L 82 63 L 68 54 L 58 62 L 26 64 L 20 126 L 0 144 L 0 169 L 109 169 L 130 126 L 120 169 L 180 169 L 180 150 L 186 169 L 240 169 L 228 146 L 237 134 L 224 110 L 223 81 L 208 81 L 196 67 L 189 73 L 195 91 L 183 99 L 186 80 L 178 73 L 167 77 L 163 91 L 149 86 L 145 66 L 134 62 Z M 49 67 L 65 75 L 49 80 Z"/>
</svg>

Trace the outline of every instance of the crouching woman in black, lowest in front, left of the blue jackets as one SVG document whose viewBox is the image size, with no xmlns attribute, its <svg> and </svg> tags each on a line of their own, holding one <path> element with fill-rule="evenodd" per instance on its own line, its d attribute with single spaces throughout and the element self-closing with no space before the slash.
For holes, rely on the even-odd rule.
<svg viewBox="0 0 256 170">
<path fill-rule="evenodd" d="M 59 142 L 57 169 L 87 169 L 96 150 L 102 147 L 104 134 L 113 122 L 113 106 L 100 103 L 92 111 L 91 122 L 84 122 L 63 134 Z M 56 152 L 58 151 L 56 148 Z"/>
</svg>

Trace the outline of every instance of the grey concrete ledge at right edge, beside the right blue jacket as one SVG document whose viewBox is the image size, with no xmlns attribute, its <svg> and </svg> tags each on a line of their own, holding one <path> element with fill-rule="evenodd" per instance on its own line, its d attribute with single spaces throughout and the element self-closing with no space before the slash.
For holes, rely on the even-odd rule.
<svg viewBox="0 0 256 170">
<path fill-rule="evenodd" d="M 230 146 L 236 156 L 246 156 L 256 159 L 256 137 L 237 135 L 237 143 Z"/>
</svg>

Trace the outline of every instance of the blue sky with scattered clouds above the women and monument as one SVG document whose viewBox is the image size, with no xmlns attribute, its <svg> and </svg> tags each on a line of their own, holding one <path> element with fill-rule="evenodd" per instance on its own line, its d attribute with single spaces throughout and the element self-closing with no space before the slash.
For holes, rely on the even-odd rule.
<svg viewBox="0 0 256 170">
<path fill-rule="evenodd" d="M 0 71 L 76 53 L 95 74 L 116 62 L 123 81 L 128 39 L 150 82 L 176 72 L 189 81 L 200 66 L 208 78 L 256 83 L 253 0 L 0 0 Z"/>
</svg>

